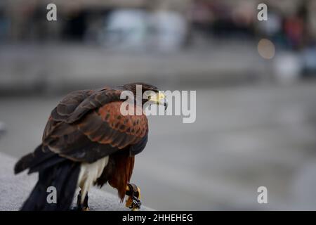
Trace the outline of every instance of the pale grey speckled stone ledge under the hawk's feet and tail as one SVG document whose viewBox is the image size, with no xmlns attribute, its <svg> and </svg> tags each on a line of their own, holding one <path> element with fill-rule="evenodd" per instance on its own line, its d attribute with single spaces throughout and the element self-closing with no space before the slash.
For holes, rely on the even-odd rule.
<svg viewBox="0 0 316 225">
<path fill-rule="evenodd" d="M 14 175 L 15 158 L 0 153 L 0 211 L 19 210 L 37 181 L 37 174 Z M 75 202 L 76 198 L 74 198 Z M 129 210 L 119 198 L 97 188 L 89 192 L 89 206 L 95 211 Z M 150 210 L 142 207 L 142 210 Z"/>
</svg>

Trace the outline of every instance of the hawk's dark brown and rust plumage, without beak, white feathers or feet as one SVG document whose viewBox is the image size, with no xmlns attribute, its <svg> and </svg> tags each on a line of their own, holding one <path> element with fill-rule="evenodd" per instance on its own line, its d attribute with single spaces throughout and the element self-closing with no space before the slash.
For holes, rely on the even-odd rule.
<svg viewBox="0 0 316 225">
<path fill-rule="evenodd" d="M 158 92 L 155 86 L 138 84 L 142 85 L 143 92 Z M 25 155 L 17 162 L 15 173 L 29 169 L 29 172 L 39 172 L 39 177 L 44 173 L 50 176 L 56 168 L 65 173 L 62 171 L 64 164 L 72 165 L 72 169 L 80 168 L 82 163 L 89 165 L 108 157 L 107 165 L 95 183 L 103 186 L 108 181 L 117 188 L 119 198 L 123 200 L 126 185 L 133 172 L 134 155 L 145 148 L 148 134 L 145 115 L 121 115 L 121 103 L 125 100 L 121 100 L 120 95 L 124 90 L 136 95 L 136 83 L 115 88 L 106 86 L 96 90 L 73 91 L 68 94 L 51 112 L 41 145 L 34 153 Z M 47 185 L 48 179 L 51 183 L 60 185 L 60 189 L 67 191 L 69 198 L 73 198 L 75 190 L 73 185 L 71 190 L 67 188 L 67 179 L 77 182 L 81 171 L 73 170 L 74 173 L 63 179 L 58 177 L 60 174 L 43 178 L 45 180 L 39 179 L 22 210 L 60 210 L 70 207 L 70 200 L 67 200 L 66 207 L 53 207 L 39 203 L 45 200 L 36 198 L 42 198 L 37 192 L 46 188 L 44 185 Z"/>
</svg>

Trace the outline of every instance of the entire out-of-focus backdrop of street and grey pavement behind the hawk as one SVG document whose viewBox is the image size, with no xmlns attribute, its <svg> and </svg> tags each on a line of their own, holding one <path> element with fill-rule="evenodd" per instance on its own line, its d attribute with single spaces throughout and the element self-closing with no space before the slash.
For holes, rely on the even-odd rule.
<svg viewBox="0 0 316 225">
<path fill-rule="evenodd" d="M 46 20 L 49 3 L 57 21 Z M 315 37 L 316 1 L 2 0 L 0 152 L 34 150 L 69 91 L 196 90 L 195 123 L 150 117 L 132 178 L 143 204 L 316 210 Z"/>
</svg>

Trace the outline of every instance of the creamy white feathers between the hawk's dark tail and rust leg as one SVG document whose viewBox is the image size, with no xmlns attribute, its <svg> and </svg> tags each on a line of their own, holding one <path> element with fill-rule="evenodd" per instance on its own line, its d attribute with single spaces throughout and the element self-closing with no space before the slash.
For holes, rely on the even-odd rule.
<svg viewBox="0 0 316 225">
<path fill-rule="evenodd" d="M 91 186 L 101 176 L 108 161 L 109 157 L 106 156 L 93 163 L 81 163 L 77 184 L 81 188 L 81 201 L 84 201 L 87 191 L 90 190 Z"/>
</svg>

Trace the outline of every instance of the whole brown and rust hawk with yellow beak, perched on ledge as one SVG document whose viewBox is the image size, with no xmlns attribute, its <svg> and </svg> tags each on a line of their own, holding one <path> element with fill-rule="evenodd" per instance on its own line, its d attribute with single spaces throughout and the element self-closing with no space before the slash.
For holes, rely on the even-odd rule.
<svg viewBox="0 0 316 225">
<path fill-rule="evenodd" d="M 136 96 L 141 86 L 147 99 L 134 101 L 140 115 L 122 115 L 122 91 Z M 147 92 L 148 93 L 148 92 Z M 143 83 L 74 91 L 53 109 L 46 124 L 42 143 L 15 165 L 15 174 L 29 169 L 39 179 L 21 210 L 69 210 L 77 187 L 78 210 L 88 210 L 88 191 L 93 185 L 108 183 L 117 188 L 126 206 L 140 207 L 137 186 L 130 184 L 134 155 L 146 146 L 147 117 L 145 103 L 165 105 L 166 98 L 156 86 Z M 56 190 L 57 203 L 47 202 L 47 188 Z"/>
</svg>

